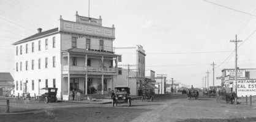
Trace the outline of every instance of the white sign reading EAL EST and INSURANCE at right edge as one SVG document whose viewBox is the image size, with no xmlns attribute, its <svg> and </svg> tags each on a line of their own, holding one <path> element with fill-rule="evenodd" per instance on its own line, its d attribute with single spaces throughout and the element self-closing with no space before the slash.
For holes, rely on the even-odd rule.
<svg viewBox="0 0 256 122">
<path fill-rule="evenodd" d="M 238 96 L 256 95 L 256 79 L 238 80 Z"/>
</svg>

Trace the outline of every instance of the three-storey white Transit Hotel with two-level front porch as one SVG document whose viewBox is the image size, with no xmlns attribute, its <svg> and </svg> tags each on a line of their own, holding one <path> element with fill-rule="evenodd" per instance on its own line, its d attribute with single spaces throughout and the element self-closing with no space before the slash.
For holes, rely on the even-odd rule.
<svg viewBox="0 0 256 122">
<path fill-rule="evenodd" d="M 77 13 L 76 21 L 61 16 L 59 27 L 44 32 L 38 29 L 37 34 L 13 43 L 15 96 L 38 95 L 43 87 L 58 88 L 57 96 L 63 99 L 78 89 L 86 95 L 108 93 L 118 75 L 114 40 L 114 26 L 104 27 L 101 17 Z"/>
</svg>

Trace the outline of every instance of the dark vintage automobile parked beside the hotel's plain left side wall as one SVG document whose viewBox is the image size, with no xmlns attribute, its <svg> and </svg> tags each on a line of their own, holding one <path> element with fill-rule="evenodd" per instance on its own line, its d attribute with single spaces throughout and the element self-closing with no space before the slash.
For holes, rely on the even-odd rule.
<svg viewBox="0 0 256 122">
<path fill-rule="evenodd" d="M 51 102 L 58 102 L 56 97 L 58 88 L 41 88 L 40 95 L 36 97 L 36 101 L 45 101 L 45 103 Z"/>
</svg>

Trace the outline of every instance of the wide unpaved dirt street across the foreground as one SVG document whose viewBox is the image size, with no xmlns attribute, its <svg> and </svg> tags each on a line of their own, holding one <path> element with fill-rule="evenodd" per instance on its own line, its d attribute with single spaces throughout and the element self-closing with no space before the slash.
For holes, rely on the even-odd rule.
<svg viewBox="0 0 256 122">
<path fill-rule="evenodd" d="M 10 102 L 10 112 L 1 121 L 256 121 L 256 106 L 217 103 L 216 98 L 161 95 L 153 102 L 134 99 L 132 106 L 77 102 Z M 2 107 L 0 107 L 3 110 Z"/>
</svg>

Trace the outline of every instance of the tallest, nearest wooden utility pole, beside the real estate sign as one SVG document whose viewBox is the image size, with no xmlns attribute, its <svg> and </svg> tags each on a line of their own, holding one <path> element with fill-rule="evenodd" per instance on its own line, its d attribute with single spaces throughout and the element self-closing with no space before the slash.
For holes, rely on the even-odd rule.
<svg viewBox="0 0 256 122">
<path fill-rule="evenodd" d="M 236 51 L 236 54 L 235 54 L 235 92 L 236 92 L 236 95 L 238 93 L 238 89 L 237 89 L 237 86 L 238 86 L 238 79 L 237 79 L 237 76 L 238 76 L 238 73 L 237 73 L 237 67 L 238 67 L 238 42 L 241 41 L 241 40 L 238 40 L 238 35 L 236 35 L 236 40 L 230 40 L 230 42 L 234 42 L 235 43 L 235 51 Z M 235 104 L 237 103 L 237 99 L 235 97 Z"/>
</svg>

